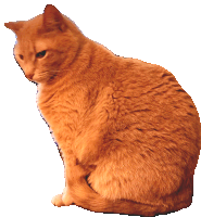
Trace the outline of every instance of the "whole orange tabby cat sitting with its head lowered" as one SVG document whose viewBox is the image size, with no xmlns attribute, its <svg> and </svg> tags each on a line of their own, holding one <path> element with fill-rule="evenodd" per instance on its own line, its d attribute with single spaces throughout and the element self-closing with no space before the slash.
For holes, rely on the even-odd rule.
<svg viewBox="0 0 201 217">
<path fill-rule="evenodd" d="M 52 5 L 5 26 L 63 154 L 55 206 L 154 216 L 191 204 L 201 125 L 169 72 L 114 55 Z"/>
</svg>

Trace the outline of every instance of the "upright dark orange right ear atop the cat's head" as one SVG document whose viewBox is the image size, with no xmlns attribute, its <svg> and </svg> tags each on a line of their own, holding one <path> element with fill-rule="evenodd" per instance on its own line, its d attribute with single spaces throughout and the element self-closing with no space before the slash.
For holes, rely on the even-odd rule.
<svg viewBox="0 0 201 217">
<path fill-rule="evenodd" d="M 67 25 L 62 14 L 53 5 L 47 5 L 43 13 L 43 27 L 46 31 L 65 31 Z"/>
</svg>

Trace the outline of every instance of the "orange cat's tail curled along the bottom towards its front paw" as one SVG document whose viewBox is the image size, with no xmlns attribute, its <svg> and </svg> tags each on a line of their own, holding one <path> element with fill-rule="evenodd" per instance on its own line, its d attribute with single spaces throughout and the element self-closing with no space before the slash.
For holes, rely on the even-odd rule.
<svg viewBox="0 0 201 217">
<path fill-rule="evenodd" d="M 126 200 L 106 200 L 100 194 L 96 193 L 87 184 L 86 180 L 83 180 L 81 184 L 73 184 L 71 195 L 76 205 L 101 213 L 122 213 L 139 216 L 154 216 L 156 214 L 165 214 L 169 209 L 169 207 L 162 205 L 141 204 Z"/>
</svg>

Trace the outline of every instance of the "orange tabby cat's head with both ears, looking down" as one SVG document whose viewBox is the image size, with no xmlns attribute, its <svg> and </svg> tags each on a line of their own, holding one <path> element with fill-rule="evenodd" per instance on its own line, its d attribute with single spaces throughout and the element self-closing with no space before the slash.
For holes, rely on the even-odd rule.
<svg viewBox="0 0 201 217">
<path fill-rule="evenodd" d="M 83 35 L 54 7 L 26 22 L 10 22 L 5 26 L 16 35 L 14 56 L 26 77 L 47 82 L 61 75 L 64 64 L 76 55 Z"/>
</svg>

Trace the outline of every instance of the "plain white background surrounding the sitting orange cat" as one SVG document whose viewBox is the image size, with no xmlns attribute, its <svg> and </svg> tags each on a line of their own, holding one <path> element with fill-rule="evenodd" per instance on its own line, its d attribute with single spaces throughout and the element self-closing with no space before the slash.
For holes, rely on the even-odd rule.
<svg viewBox="0 0 201 217">
<path fill-rule="evenodd" d="M 191 95 L 201 116 L 199 1 L 49 3 L 115 54 L 167 68 Z M 13 59 L 14 35 L 3 27 L 4 22 L 26 21 L 42 13 L 46 4 L 43 0 L 8 1 L 1 8 L 1 213 L 21 217 L 103 216 L 75 205 L 56 208 L 50 203 L 64 188 L 63 163 L 37 110 L 36 85 L 25 78 Z M 194 174 L 192 205 L 168 216 L 200 215 L 200 174 L 201 159 Z"/>
</svg>

